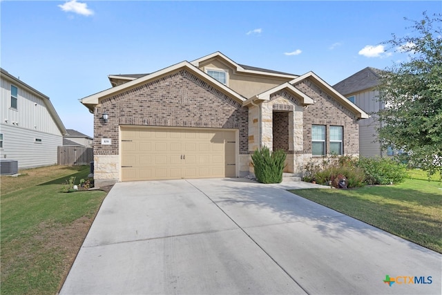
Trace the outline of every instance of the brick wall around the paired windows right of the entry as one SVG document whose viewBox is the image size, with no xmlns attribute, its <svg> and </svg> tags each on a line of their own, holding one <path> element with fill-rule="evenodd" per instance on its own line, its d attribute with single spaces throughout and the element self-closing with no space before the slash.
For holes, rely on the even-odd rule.
<svg viewBox="0 0 442 295">
<path fill-rule="evenodd" d="M 359 154 L 359 129 L 356 116 L 313 82 L 303 81 L 296 88 L 315 100 L 303 114 L 304 153 L 311 154 L 311 125 L 325 125 L 326 153 L 329 153 L 329 126 L 343 126 L 343 153 Z"/>
</svg>

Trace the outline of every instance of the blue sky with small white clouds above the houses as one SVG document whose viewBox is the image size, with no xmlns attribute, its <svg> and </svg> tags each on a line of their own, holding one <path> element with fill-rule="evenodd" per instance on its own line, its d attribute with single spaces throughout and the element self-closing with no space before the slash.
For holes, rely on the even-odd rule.
<svg viewBox="0 0 442 295">
<path fill-rule="evenodd" d="M 152 73 L 220 51 L 239 64 L 334 85 L 406 59 L 383 48 L 441 1 L 1 0 L 1 67 L 48 95 L 67 129 L 93 136 L 78 99 L 108 75 Z M 385 52 L 385 50 L 387 50 Z"/>
</svg>

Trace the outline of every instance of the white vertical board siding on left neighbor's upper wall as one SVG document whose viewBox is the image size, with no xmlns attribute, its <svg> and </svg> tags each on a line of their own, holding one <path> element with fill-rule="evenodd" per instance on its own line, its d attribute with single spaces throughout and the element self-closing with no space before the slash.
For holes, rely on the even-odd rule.
<svg viewBox="0 0 442 295">
<path fill-rule="evenodd" d="M 10 107 L 11 84 L 18 88 L 17 110 Z M 61 131 L 52 119 L 44 100 L 26 91 L 19 84 L 3 79 L 3 77 L 1 79 L 0 120 L 2 124 L 61 135 Z"/>
</svg>

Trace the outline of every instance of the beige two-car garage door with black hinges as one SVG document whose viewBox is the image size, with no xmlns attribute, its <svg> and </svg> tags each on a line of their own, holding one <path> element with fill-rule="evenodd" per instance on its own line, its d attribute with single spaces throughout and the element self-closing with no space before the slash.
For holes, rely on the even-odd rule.
<svg viewBox="0 0 442 295">
<path fill-rule="evenodd" d="M 236 176 L 233 130 L 121 127 L 122 181 Z"/>
</svg>

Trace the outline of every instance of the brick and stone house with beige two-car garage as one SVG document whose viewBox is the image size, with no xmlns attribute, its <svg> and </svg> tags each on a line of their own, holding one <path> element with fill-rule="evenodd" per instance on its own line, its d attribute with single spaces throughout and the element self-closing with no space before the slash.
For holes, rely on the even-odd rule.
<svg viewBox="0 0 442 295">
<path fill-rule="evenodd" d="M 95 183 L 242 177 L 260 146 L 287 152 L 285 171 L 358 155 L 368 115 L 313 72 L 237 64 L 220 52 L 155 73 L 110 75 L 84 97 L 94 114 Z"/>
</svg>

